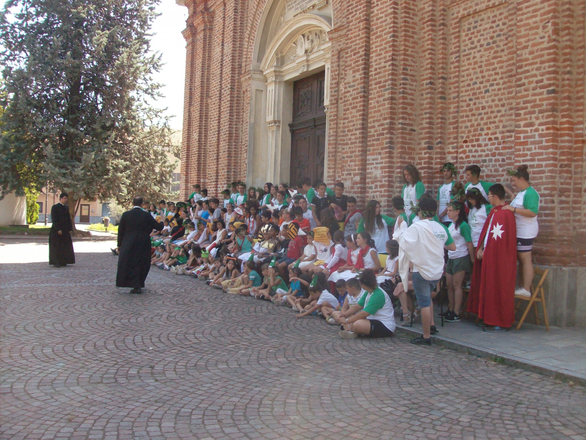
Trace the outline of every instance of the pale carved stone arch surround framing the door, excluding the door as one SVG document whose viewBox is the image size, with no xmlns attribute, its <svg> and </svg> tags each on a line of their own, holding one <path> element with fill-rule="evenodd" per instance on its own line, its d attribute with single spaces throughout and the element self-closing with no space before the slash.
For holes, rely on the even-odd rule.
<svg viewBox="0 0 586 440">
<path fill-rule="evenodd" d="M 308 12 L 292 16 L 286 6 L 284 0 L 265 6 L 251 66 L 247 181 L 255 186 L 289 182 L 294 82 L 325 71 L 326 115 L 329 104 L 331 6 L 316 1 Z M 327 148 L 327 116 L 325 137 Z"/>
</svg>

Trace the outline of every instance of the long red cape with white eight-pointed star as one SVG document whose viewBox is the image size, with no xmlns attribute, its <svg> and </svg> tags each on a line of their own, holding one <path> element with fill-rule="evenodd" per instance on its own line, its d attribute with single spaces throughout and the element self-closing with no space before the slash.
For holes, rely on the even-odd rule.
<svg viewBox="0 0 586 440">
<path fill-rule="evenodd" d="M 478 314 L 489 326 L 510 327 L 515 322 L 517 278 L 515 215 L 502 206 L 492 208 L 482 228 L 479 243 L 484 242 L 487 233 L 488 241 L 482 260 L 476 259 L 474 263 L 466 309 Z"/>
</svg>

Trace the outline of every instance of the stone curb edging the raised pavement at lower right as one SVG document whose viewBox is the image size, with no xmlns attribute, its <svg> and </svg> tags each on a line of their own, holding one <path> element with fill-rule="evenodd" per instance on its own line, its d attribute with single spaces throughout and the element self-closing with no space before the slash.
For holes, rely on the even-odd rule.
<svg viewBox="0 0 586 440">
<path fill-rule="evenodd" d="M 423 332 L 419 329 L 411 327 L 397 326 L 396 333 L 406 334 L 408 336 L 420 336 Z M 502 363 L 510 367 L 521 368 L 522 370 L 531 371 L 532 373 L 539 373 L 544 376 L 562 381 L 582 385 L 586 387 L 586 375 L 575 373 L 564 369 L 554 370 L 549 365 L 540 364 L 539 362 L 522 359 L 512 354 L 502 353 L 497 350 L 490 350 L 490 348 L 479 347 L 473 344 L 465 344 L 462 341 L 451 339 L 445 336 L 432 336 L 434 345 L 449 348 L 449 350 L 458 351 L 458 353 L 472 354 L 472 356 L 502 359 Z"/>
</svg>

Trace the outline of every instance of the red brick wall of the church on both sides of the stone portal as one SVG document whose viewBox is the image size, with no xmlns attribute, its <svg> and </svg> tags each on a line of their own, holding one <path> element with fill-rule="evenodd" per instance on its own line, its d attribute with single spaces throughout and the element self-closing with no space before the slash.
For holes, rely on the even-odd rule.
<svg viewBox="0 0 586 440">
<path fill-rule="evenodd" d="M 267 0 L 187 0 L 182 192 L 244 180 L 254 40 Z M 541 194 L 537 261 L 586 266 L 583 0 L 331 0 L 326 180 L 381 201 L 445 161 Z M 218 161 L 217 158 L 220 158 Z"/>
</svg>

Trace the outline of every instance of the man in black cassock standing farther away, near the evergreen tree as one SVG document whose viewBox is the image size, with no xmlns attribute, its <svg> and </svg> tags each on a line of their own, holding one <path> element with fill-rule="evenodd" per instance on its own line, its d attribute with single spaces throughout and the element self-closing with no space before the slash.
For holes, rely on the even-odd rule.
<svg viewBox="0 0 586 440">
<path fill-rule="evenodd" d="M 49 232 L 49 264 L 54 268 L 72 265 L 75 263 L 73 242 L 70 231 L 73 231 L 69 207 L 67 206 L 67 193 L 59 195 L 59 203 L 51 208 L 51 231 Z"/>
</svg>

